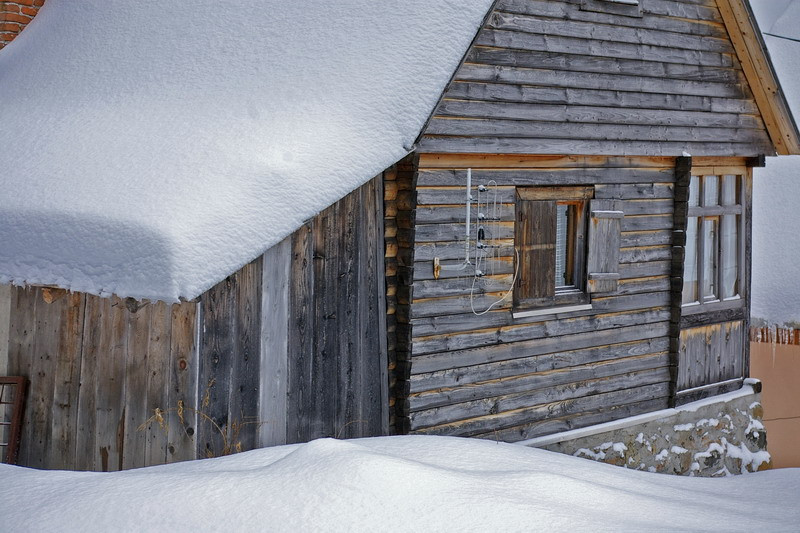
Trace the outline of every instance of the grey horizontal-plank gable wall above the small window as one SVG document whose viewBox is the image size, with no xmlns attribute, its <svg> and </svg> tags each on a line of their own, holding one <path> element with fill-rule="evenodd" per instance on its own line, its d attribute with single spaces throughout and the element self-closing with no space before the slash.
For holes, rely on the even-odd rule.
<svg viewBox="0 0 800 533">
<path fill-rule="evenodd" d="M 773 154 L 715 0 L 639 4 L 500 0 L 421 150 Z"/>
</svg>

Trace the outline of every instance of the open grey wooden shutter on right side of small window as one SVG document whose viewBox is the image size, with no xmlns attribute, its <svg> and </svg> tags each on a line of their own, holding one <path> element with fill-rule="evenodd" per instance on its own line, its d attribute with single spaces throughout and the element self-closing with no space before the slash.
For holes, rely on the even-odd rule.
<svg viewBox="0 0 800 533">
<path fill-rule="evenodd" d="M 613 292 L 619 283 L 619 246 L 623 213 L 619 200 L 589 203 L 589 257 L 587 292 Z"/>
</svg>

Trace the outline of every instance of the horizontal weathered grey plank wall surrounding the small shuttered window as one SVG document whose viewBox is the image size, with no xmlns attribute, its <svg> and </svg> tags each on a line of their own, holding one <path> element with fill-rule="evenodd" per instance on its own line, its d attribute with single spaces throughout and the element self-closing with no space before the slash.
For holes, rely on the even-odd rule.
<svg viewBox="0 0 800 533">
<path fill-rule="evenodd" d="M 501 202 L 499 257 L 476 282 L 477 311 L 512 282 L 515 185 L 594 184 L 595 198 L 622 200 L 618 290 L 594 296 L 591 311 L 514 319 L 509 298 L 473 314 L 471 277 L 433 276 L 435 257 L 463 259 L 466 167 L 473 187 L 494 180 Z M 517 441 L 667 407 L 675 174 L 674 158 L 423 154 L 398 399 L 408 430 Z"/>
</svg>

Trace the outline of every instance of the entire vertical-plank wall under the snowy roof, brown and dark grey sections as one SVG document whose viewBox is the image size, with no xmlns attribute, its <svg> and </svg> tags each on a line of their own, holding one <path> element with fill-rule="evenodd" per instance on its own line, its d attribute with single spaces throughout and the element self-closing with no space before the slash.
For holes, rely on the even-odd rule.
<svg viewBox="0 0 800 533">
<path fill-rule="evenodd" d="M 112 471 L 386 434 L 383 197 L 379 176 L 197 302 L 3 287 L 0 362 L 30 380 L 19 464 Z"/>
</svg>

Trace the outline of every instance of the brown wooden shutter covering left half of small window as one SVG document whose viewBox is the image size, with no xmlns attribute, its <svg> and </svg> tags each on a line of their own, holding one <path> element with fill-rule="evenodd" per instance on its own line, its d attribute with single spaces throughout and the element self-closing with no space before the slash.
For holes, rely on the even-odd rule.
<svg viewBox="0 0 800 533">
<path fill-rule="evenodd" d="M 518 199 L 515 239 L 520 262 L 515 300 L 552 298 L 556 289 L 556 202 Z"/>
</svg>

